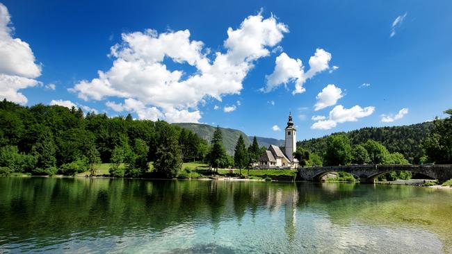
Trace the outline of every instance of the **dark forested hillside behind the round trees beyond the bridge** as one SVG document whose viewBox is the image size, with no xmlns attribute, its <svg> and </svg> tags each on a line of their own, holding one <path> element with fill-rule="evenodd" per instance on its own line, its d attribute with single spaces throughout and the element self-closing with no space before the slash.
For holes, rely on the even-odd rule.
<svg viewBox="0 0 452 254">
<path fill-rule="evenodd" d="M 408 160 L 417 162 L 423 155 L 421 142 L 432 129 L 433 122 L 425 122 L 410 126 L 361 128 L 345 134 L 352 144 L 362 144 L 367 139 L 373 139 L 384 145 L 389 152 L 402 153 Z M 325 151 L 327 137 L 303 140 L 297 144 L 321 155 Z"/>
</svg>

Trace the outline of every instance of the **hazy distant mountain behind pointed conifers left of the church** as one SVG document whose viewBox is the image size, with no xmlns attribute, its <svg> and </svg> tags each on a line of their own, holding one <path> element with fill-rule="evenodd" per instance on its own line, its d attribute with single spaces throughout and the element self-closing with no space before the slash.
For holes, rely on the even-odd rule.
<svg viewBox="0 0 452 254">
<path fill-rule="evenodd" d="M 198 137 L 206 140 L 207 142 L 209 142 L 209 144 L 212 140 L 213 132 L 216 129 L 216 127 L 209 126 L 207 124 L 177 123 L 175 125 L 193 131 L 193 133 L 196 133 Z M 234 149 L 236 147 L 237 139 L 239 139 L 240 135 L 243 135 L 244 137 L 245 146 L 248 147 L 251 144 L 250 140 L 246 138 L 248 137 L 248 135 L 243 133 L 241 130 L 221 127 L 220 130 L 221 133 L 223 133 L 223 144 L 225 145 L 225 149 L 227 151 L 227 154 L 229 155 L 234 155 Z"/>
</svg>

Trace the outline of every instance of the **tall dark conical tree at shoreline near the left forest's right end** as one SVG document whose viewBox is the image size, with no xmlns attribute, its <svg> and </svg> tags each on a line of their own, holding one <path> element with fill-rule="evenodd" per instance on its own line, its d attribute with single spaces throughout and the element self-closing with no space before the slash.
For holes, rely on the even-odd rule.
<svg viewBox="0 0 452 254">
<path fill-rule="evenodd" d="M 158 176 L 173 178 L 178 175 L 182 167 L 182 154 L 175 132 L 170 126 L 161 130 L 159 144 L 161 145 L 156 151 L 154 161 L 155 172 Z"/>
</svg>

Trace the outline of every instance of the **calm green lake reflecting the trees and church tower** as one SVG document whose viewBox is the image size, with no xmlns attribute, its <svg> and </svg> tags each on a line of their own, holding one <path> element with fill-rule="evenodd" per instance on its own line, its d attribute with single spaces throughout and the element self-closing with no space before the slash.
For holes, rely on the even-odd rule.
<svg viewBox="0 0 452 254">
<path fill-rule="evenodd" d="M 0 253 L 452 253 L 452 191 L 0 178 Z"/>
</svg>

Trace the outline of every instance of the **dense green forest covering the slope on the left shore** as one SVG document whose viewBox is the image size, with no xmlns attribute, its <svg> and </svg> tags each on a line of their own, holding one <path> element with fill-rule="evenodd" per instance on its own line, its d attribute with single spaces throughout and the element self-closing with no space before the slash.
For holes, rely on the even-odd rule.
<svg viewBox="0 0 452 254">
<path fill-rule="evenodd" d="M 166 151 L 172 149 L 170 144 L 174 151 Z M 76 173 L 74 168 L 86 170 L 87 164 L 114 162 L 126 163 L 129 175 L 135 176 L 136 169 L 147 171 L 147 162 L 155 162 L 159 154 L 203 160 L 208 149 L 204 139 L 166 121 L 84 115 L 81 109 L 59 105 L 24 107 L 0 101 L 3 171 L 54 174 L 67 169 Z"/>
</svg>

